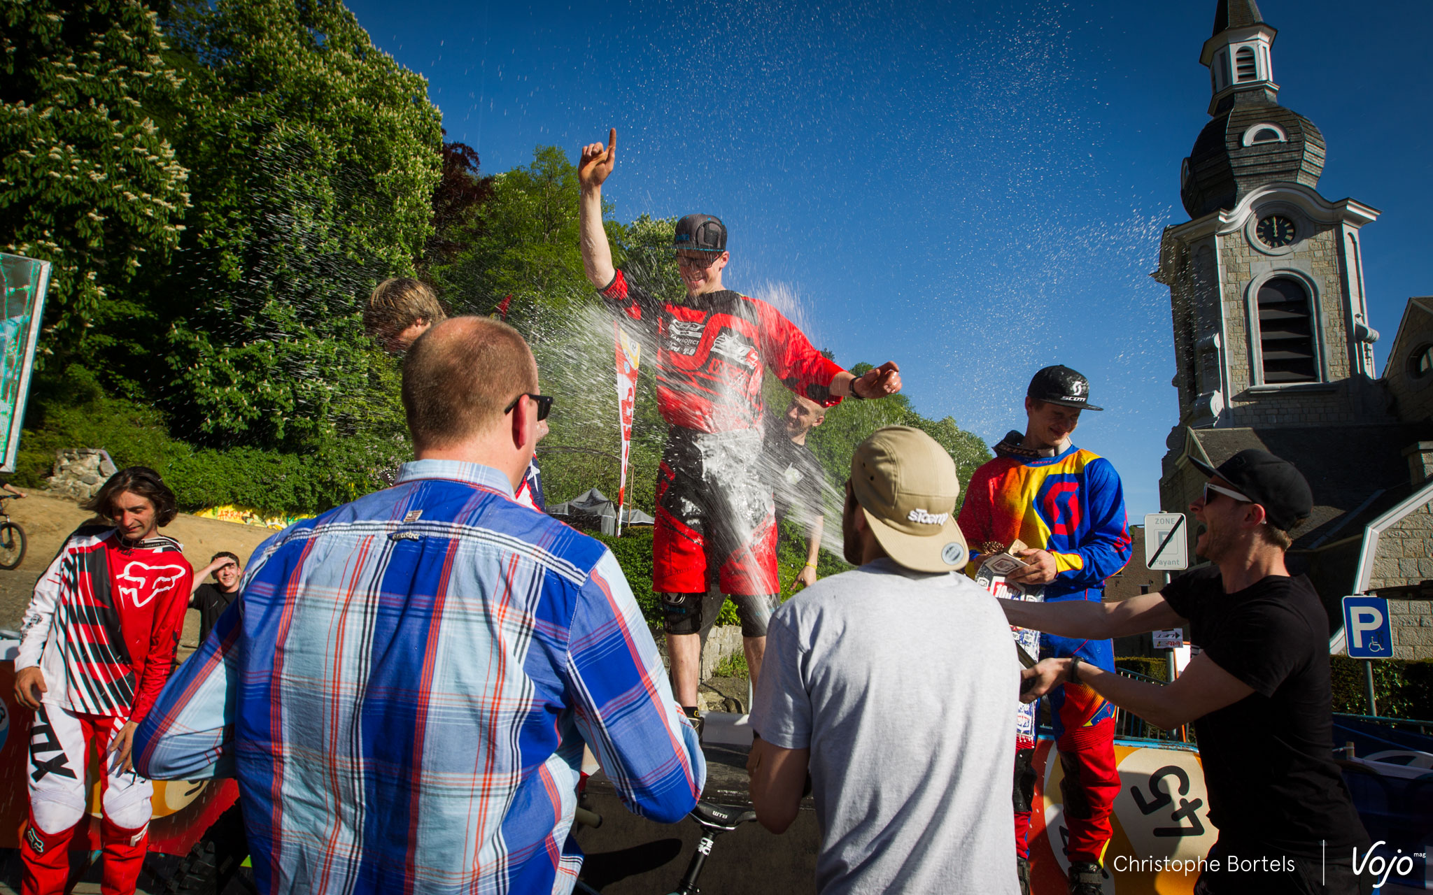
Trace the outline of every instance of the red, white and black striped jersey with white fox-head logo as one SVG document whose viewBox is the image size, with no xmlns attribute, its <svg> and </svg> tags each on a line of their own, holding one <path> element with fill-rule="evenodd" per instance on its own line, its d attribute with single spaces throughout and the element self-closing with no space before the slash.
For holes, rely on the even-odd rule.
<svg viewBox="0 0 1433 895">
<path fill-rule="evenodd" d="M 192 579 L 171 537 L 76 530 L 34 586 L 16 670 L 40 666 L 46 703 L 143 719 L 169 679 Z"/>
</svg>

